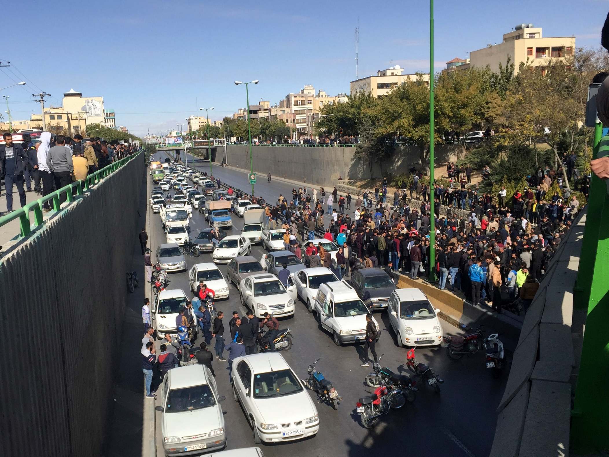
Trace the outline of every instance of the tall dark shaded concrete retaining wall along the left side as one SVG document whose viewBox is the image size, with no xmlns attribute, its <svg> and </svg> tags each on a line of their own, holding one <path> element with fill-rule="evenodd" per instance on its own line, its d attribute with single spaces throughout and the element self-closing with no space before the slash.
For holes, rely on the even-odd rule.
<svg viewBox="0 0 609 457">
<path fill-rule="evenodd" d="M 145 172 L 141 154 L 0 265 L 2 455 L 100 455 Z"/>
</svg>

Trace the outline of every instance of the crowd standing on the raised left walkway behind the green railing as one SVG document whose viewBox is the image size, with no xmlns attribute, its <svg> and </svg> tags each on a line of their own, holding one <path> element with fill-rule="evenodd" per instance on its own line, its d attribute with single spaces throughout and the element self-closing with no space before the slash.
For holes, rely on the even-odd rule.
<svg viewBox="0 0 609 457">
<path fill-rule="evenodd" d="M 13 186 L 19 195 L 19 203 L 27 203 L 26 192 L 47 196 L 55 190 L 110 163 L 137 152 L 132 145 L 86 138 L 74 135 L 52 135 L 42 132 L 40 138 L 24 133 L 21 140 L 13 141 L 12 133 L 5 132 L 0 144 L 0 179 L 4 180 L 7 213 L 13 211 Z M 33 181 L 33 188 L 32 188 Z M 62 194 L 60 201 L 66 200 Z M 48 202 L 44 211 L 51 211 Z"/>
</svg>

